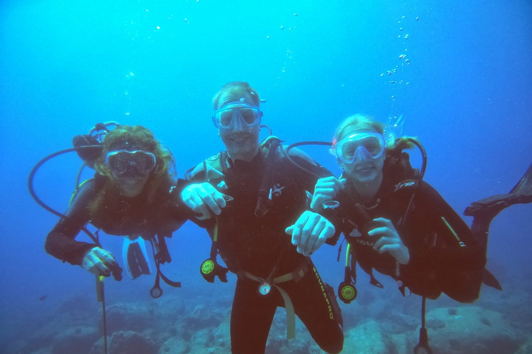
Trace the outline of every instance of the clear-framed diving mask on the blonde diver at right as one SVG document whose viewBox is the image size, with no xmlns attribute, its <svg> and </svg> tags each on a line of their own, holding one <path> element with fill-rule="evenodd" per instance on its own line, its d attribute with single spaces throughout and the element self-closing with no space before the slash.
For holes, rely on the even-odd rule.
<svg viewBox="0 0 532 354">
<path fill-rule="evenodd" d="M 332 143 L 332 152 L 344 163 L 380 158 L 385 148 L 384 136 L 373 132 L 352 134 Z"/>
</svg>

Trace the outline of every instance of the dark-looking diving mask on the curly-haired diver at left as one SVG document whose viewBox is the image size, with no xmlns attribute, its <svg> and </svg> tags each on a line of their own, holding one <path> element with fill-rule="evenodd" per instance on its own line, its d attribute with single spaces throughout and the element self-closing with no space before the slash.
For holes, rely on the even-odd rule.
<svg viewBox="0 0 532 354">
<path fill-rule="evenodd" d="M 156 162 L 157 158 L 153 153 L 143 150 L 114 150 L 105 156 L 105 165 L 118 177 L 131 174 L 148 176 Z"/>
</svg>

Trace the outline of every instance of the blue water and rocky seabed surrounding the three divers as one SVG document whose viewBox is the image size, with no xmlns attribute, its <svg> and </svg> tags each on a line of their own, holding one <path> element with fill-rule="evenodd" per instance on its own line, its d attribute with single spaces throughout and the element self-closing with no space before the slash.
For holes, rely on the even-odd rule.
<svg viewBox="0 0 532 354">
<path fill-rule="evenodd" d="M 2 0 L 0 353 L 103 353 L 94 276 L 44 252 L 57 217 L 28 193 L 33 166 L 115 120 L 152 129 L 183 177 L 222 149 L 211 99 L 234 80 L 267 100 L 263 124 L 286 144 L 330 141 L 353 113 L 417 136 L 425 180 L 459 214 L 510 191 L 532 162 L 529 0 Z M 303 149 L 339 174 L 326 147 Z M 46 162 L 35 192 L 64 211 L 81 165 L 76 153 Z M 487 268 L 503 292 L 484 286 L 473 304 L 427 302 L 434 353 L 532 353 L 531 230 L 532 205 L 492 223 Z M 122 239 L 100 233 L 100 242 L 122 264 Z M 182 288 L 161 283 L 163 297 L 152 299 L 153 276 L 105 280 L 109 353 L 230 353 L 236 277 L 202 279 L 211 243 L 190 222 L 168 247 L 163 271 Z M 343 277 L 337 253 L 325 245 L 312 256 L 334 288 Z M 413 353 L 420 297 L 403 298 L 375 276 L 384 289 L 359 270 L 359 297 L 340 303 L 343 353 Z M 267 353 L 323 353 L 300 322 L 287 342 L 284 316 Z"/>
</svg>

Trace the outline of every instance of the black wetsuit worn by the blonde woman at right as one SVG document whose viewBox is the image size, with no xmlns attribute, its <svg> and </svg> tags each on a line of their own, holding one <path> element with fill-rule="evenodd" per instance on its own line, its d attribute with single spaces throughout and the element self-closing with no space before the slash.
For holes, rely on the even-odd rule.
<svg viewBox="0 0 532 354">
<path fill-rule="evenodd" d="M 486 254 L 470 228 L 428 183 L 422 182 L 419 187 L 401 184 L 400 179 L 386 173 L 386 167 L 385 163 L 384 180 L 373 203 L 361 205 L 371 219 L 387 218 L 393 223 L 409 249 L 409 263 L 399 265 L 389 252 L 379 254 L 374 250 L 378 236 L 369 236 L 364 229 L 361 234 L 350 223 L 335 223 L 351 244 L 353 259 L 371 275 L 371 282 L 376 285 L 379 283 L 373 278 L 373 269 L 402 281 L 411 292 L 429 299 L 445 292 L 456 301 L 475 301 L 479 297 Z M 350 198 L 344 197 L 341 208 L 350 217 L 353 204 L 360 199 L 350 180 L 346 192 Z M 357 223 L 356 218 L 351 219 Z"/>
</svg>

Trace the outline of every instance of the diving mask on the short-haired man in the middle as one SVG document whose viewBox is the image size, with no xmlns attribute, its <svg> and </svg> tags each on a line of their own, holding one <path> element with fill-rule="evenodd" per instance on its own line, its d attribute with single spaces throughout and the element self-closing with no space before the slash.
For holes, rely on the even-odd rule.
<svg viewBox="0 0 532 354">
<path fill-rule="evenodd" d="M 260 124 L 263 112 L 240 99 L 214 111 L 213 122 L 218 129 L 245 129 Z"/>
</svg>

